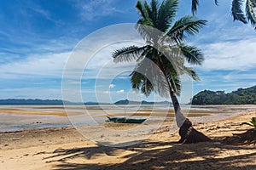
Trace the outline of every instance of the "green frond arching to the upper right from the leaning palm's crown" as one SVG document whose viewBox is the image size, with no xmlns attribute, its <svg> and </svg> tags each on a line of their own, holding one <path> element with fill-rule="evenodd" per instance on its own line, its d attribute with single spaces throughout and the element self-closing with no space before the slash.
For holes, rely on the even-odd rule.
<svg viewBox="0 0 256 170">
<path fill-rule="evenodd" d="M 202 26 L 207 24 L 207 20 L 197 20 L 194 16 L 184 16 L 177 20 L 167 36 L 174 39 L 177 43 L 183 42 L 187 36 L 193 36 L 198 33 Z"/>
</svg>

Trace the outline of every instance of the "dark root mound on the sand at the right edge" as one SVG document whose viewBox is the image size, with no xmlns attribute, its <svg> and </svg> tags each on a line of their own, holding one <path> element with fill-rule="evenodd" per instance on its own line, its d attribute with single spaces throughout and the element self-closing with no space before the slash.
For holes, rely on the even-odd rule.
<svg viewBox="0 0 256 170">
<path fill-rule="evenodd" d="M 245 133 L 233 133 L 233 136 L 226 137 L 224 144 L 256 144 L 256 130 L 249 129 Z"/>
</svg>

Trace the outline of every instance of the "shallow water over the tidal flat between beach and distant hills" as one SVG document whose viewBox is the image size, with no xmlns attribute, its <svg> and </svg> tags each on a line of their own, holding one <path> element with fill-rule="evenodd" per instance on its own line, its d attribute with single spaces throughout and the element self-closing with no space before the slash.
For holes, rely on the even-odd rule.
<svg viewBox="0 0 256 170">
<path fill-rule="evenodd" d="M 90 105 L 86 108 L 81 105 L 72 105 L 67 107 L 68 113 L 80 113 L 77 116 L 50 116 L 50 115 L 20 115 L 10 114 L 6 110 L 22 110 L 22 111 L 64 111 L 63 105 L 2 105 L 0 106 L 0 133 L 20 131 L 26 128 L 39 128 L 39 127 L 70 127 L 80 125 L 96 125 L 106 121 L 106 116 L 118 115 L 118 116 L 131 116 L 131 114 L 140 111 L 140 116 L 143 113 L 144 117 L 148 118 L 150 122 L 160 121 L 166 119 L 162 112 L 167 113 L 167 110 L 172 110 L 172 107 L 168 108 L 168 105 Z M 183 110 L 191 112 L 198 111 L 197 116 L 190 118 L 193 122 L 210 122 L 224 119 L 230 116 L 236 116 L 238 113 L 247 111 L 256 111 L 256 105 L 193 105 L 189 108 L 189 105 L 183 105 Z M 6 111 L 6 112 L 4 112 Z M 161 114 L 158 116 L 158 112 Z M 185 113 L 185 114 L 189 114 Z M 206 114 L 208 116 L 206 116 Z M 190 114 L 191 115 L 191 114 Z M 200 116 L 201 115 L 201 116 Z M 164 117 L 163 117 L 164 116 Z M 172 118 L 170 118 L 171 120 Z M 73 122 L 73 123 L 72 123 Z"/>
</svg>

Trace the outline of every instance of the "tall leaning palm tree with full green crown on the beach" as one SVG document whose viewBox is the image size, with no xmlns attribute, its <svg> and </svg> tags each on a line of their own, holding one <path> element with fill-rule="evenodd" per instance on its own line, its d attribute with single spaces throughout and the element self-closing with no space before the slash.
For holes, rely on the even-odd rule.
<svg viewBox="0 0 256 170">
<path fill-rule="evenodd" d="M 162 3 L 156 0 L 151 3 L 138 1 L 136 8 L 140 19 L 136 28 L 145 45 L 117 49 L 113 52 L 113 61 L 136 60 L 137 65 L 130 75 L 132 88 L 141 90 L 146 96 L 154 91 L 160 96 L 171 97 L 182 137 L 179 142 L 206 141 L 209 139 L 197 132 L 189 119 L 183 116 L 177 95 L 181 92 L 181 74 L 199 80 L 195 71 L 185 66 L 185 61 L 191 65 L 201 65 L 204 57 L 200 49 L 183 42 L 186 37 L 198 33 L 207 21 L 188 15 L 173 23 L 177 4 L 177 0 L 164 0 Z"/>
</svg>

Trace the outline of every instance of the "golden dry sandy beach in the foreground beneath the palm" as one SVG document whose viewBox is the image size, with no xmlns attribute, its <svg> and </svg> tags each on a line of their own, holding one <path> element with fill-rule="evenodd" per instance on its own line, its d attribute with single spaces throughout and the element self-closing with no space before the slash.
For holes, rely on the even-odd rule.
<svg viewBox="0 0 256 170">
<path fill-rule="evenodd" d="M 169 120 L 148 139 L 119 148 L 85 139 L 74 127 L 0 133 L 0 169 L 256 169 L 255 145 L 220 142 L 250 128 L 241 122 L 252 116 L 255 111 L 195 122 L 197 130 L 213 139 L 199 144 L 177 144 L 179 136 L 170 132 Z M 134 125 L 106 122 L 104 126 L 120 130 Z"/>
</svg>

